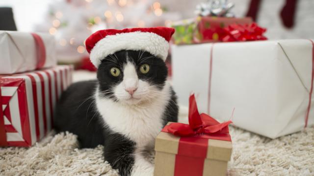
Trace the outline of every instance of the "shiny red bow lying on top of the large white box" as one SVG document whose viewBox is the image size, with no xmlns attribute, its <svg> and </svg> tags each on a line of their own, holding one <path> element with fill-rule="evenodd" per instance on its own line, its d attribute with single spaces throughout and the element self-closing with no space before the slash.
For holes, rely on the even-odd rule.
<svg viewBox="0 0 314 176">
<path fill-rule="evenodd" d="M 257 23 L 251 24 L 231 24 L 224 28 L 223 42 L 235 42 L 235 41 L 256 41 L 267 40 L 263 33 L 266 32 L 265 28 L 260 27 Z"/>
</svg>

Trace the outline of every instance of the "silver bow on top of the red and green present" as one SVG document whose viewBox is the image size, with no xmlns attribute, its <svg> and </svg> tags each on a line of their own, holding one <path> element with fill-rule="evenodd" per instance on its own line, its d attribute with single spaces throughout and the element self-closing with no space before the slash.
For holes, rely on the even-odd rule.
<svg viewBox="0 0 314 176">
<path fill-rule="evenodd" d="M 234 3 L 228 0 L 208 0 L 196 6 L 195 13 L 199 16 L 217 16 L 217 17 L 234 17 L 230 11 L 234 7 Z"/>
</svg>

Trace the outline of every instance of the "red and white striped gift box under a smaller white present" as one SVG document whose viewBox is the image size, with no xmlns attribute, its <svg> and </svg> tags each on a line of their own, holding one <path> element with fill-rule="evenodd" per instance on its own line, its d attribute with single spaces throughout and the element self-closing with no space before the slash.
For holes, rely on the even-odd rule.
<svg viewBox="0 0 314 176">
<path fill-rule="evenodd" d="M 52 129 L 53 111 L 72 83 L 72 66 L 0 77 L 0 146 L 33 145 Z"/>
</svg>

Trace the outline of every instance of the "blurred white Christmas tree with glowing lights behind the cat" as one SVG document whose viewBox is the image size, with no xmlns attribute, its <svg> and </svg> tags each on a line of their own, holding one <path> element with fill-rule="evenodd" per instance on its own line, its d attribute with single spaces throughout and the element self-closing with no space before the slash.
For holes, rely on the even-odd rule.
<svg viewBox="0 0 314 176">
<path fill-rule="evenodd" d="M 156 0 L 62 0 L 35 29 L 55 36 L 59 62 L 78 63 L 88 57 L 85 39 L 97 30 L 164 26 L 180 18 Z"/>
</svg>

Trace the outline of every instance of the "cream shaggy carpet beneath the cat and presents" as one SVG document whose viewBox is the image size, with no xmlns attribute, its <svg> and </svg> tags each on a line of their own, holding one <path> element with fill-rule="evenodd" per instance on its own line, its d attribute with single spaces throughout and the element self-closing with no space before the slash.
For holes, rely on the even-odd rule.
<svg viewBox="0 0 314 176">
<path fill-rule="evenodd" d="M 314 176 L 314 127 L 273 140 L 235 127 L 230 132 L 229 176 Z M 118 176 L 104 162 L 103 146 L 77 146 L 76 135 L 51 132 L 31 148 L 0 148 L 0 175 Z"/>
</svg>

